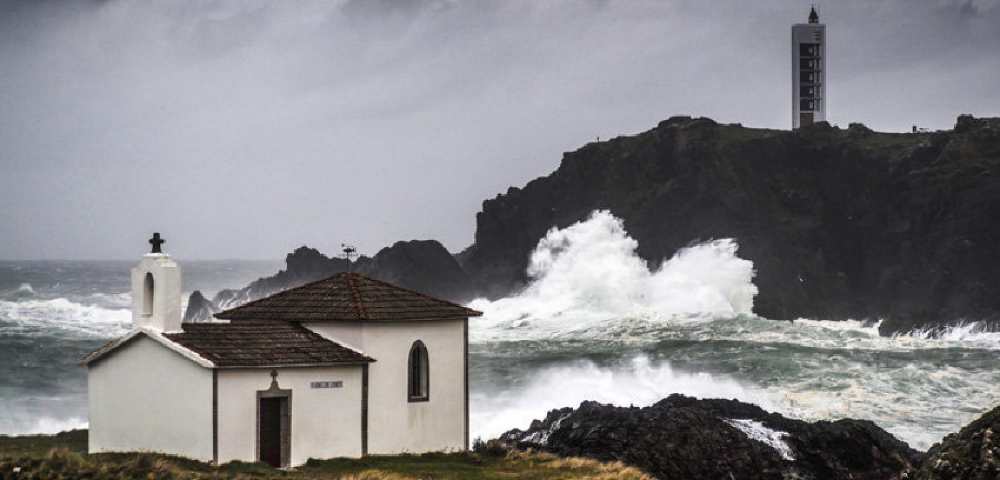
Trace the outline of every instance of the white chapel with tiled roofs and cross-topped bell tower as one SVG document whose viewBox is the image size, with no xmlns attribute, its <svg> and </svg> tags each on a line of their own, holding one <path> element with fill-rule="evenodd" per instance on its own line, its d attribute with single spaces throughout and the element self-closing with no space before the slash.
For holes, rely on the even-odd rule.
<svg viewBox="0 0 1000 480">
<path fill-rule="evenodd" d="M 132 330 L 80 361 L 91 453 L 291 467 L 468 447 L 480 312 L 346 272 L 182 323 L 181 269 L 150 242 Z"/>
</svg>

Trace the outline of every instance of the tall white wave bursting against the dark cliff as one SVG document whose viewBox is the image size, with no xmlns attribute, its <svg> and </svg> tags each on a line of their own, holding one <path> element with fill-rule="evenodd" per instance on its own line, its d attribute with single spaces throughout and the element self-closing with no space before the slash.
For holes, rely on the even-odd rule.
<svg viewBox="0 0 1000 480">
<path fill-rule="evenodd" d="M 637 247 L 607 211 L 549 230 L 531 256 L 523 292 L 471 303 L 486 313 L 473 341 L 581 332 L 622 318 L 751 313 L 753 263 L 737 257 L 731 239 L 681 249 L 654 271 Z"/>
</svg>

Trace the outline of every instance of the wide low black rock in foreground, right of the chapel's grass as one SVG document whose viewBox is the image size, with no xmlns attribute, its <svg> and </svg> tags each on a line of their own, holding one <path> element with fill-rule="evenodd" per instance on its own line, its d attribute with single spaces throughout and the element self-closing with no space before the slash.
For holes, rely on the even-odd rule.
<svg viewBox="0 0 1000 480">
<path fill-rule="evenodd" d="M 771 440 L 761 441 L 768 433 Z M 662 479 L 884 480 L 901 478 L 922 458 L 868 421 L 807 423 L 736 400 L 683 396 L 646 408 L 583 402 L 577 409 L 553 410 L 527 431 L 512 430 L 500 441 L 561 456 L 620 460 Z"/>
</svg>

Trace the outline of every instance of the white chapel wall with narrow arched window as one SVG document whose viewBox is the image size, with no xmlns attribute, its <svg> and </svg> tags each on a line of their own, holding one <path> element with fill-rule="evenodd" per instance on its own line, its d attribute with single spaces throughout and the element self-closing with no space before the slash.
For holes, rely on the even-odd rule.
<svg viewBox="0 0 1000 480">
<path fill-rule="evenodd" d="M 313 322 L 307 327 L 376 359 L 369 367 L 369 453 L 467 448 L 464 319 Z M 429 400 L 411 403 L 407 363 L 417 340 L 428 351 Z"/>
</svg>

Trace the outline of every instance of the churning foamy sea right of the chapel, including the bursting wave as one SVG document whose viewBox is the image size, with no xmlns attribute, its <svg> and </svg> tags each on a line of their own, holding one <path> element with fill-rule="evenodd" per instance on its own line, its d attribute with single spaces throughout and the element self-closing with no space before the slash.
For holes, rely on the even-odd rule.
<svg viewBox="0 0 1000 480">
<path fill-rule="evenodd" d="M 473 390 L 476 434 L 583 400 L 642 406 L 684 393 L 808 421 L 871 420 L 926 449 L 1000 401 L 1000 334 L 979 324 L 882 337 L 854 320 L 771 321 L 751 312 L 753 266 L 733 241 L 682 249 L 652 271 L 636 247 L 620 220 L 596 212 L 546 236 L 523 292 L 472 303 L 484 312 L 471 322 L 473 347 L 531 369 Z M 601 366 L 560 360 L 594 354 Z"/>
</svg>

